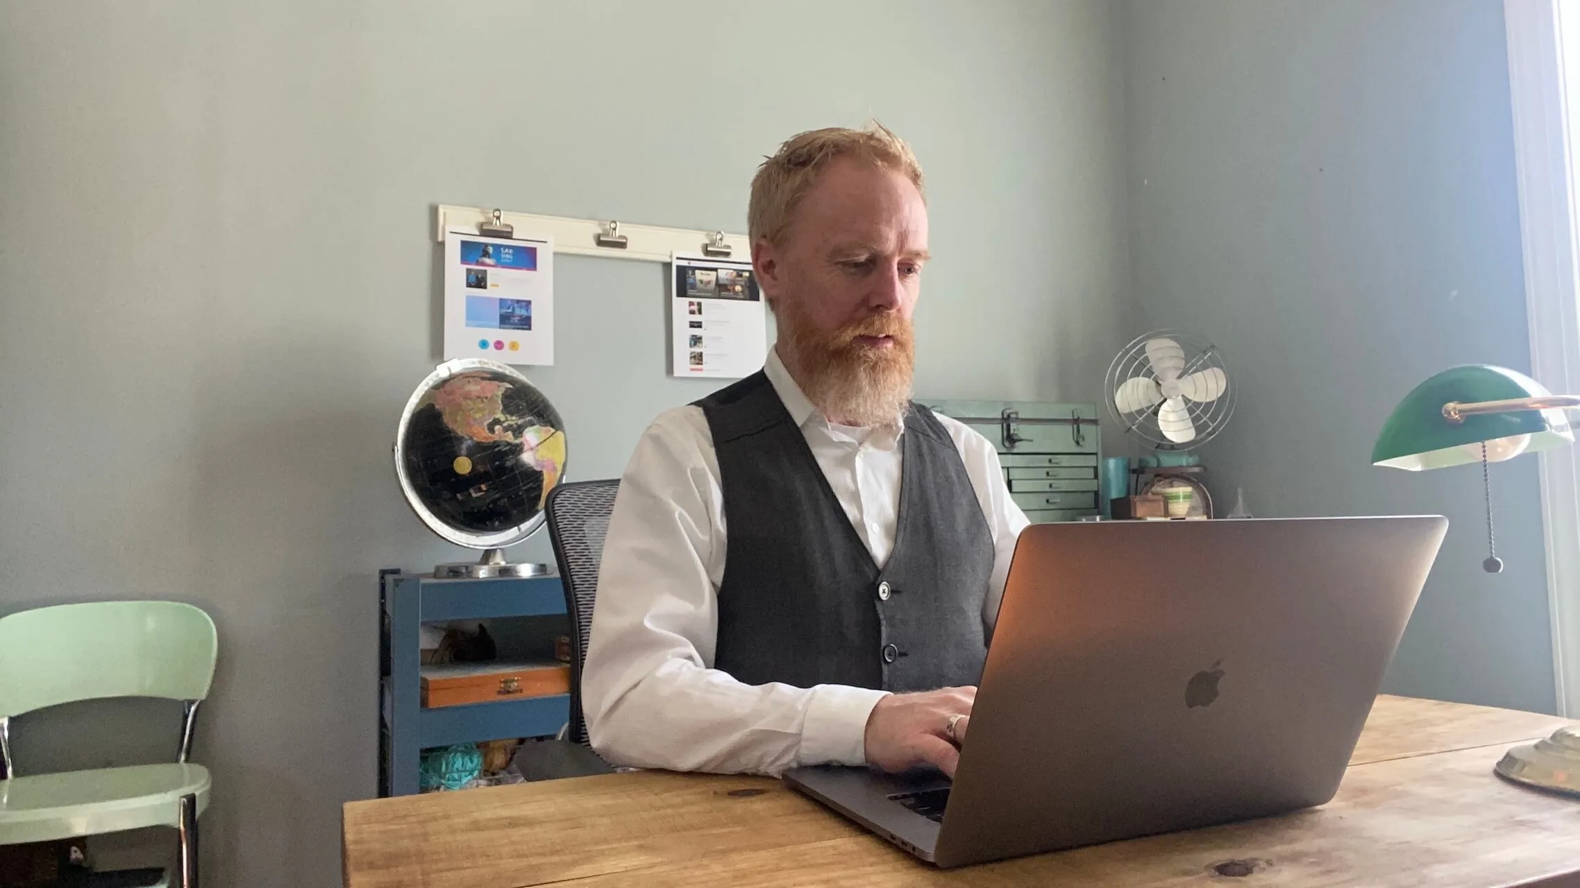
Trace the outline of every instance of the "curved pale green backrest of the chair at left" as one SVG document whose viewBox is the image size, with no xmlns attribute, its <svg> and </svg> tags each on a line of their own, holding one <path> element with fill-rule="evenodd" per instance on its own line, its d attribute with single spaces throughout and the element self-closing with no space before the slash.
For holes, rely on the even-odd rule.
<svg viewBox="0 0 1580 888">
<path fill-rule="evenodd" d="M 63 604 L 0 618 L 0 719 L 101 697 L 202 700 L 220 640 L 180 602 Z"/>
</svg>

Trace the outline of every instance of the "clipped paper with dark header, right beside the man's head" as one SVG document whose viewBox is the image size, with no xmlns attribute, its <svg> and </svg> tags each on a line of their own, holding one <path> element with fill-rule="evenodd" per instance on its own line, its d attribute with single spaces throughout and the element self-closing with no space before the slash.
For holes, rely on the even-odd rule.
<svg viewBox="0 0 1580 888">
<path fill-rule="evenodd" d="M 675 376 L 739 379 L 768 360 L 768 310 L 750 262 L 673 258 Z"/>
</svg>

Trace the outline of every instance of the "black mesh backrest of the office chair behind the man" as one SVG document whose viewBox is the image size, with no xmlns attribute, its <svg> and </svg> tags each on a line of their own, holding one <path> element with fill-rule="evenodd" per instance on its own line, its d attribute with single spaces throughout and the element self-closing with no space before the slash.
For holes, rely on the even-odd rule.
<svg viewBox="0 0 1580 888">
<path fill-rule="evenodd" d="M 561 484 L 548 495 L 548 539 L 555 547 L 559 581 L 566 588 L 570 615 L 570 730 L 569 739 L 588 746 L 581 719 L 581 664 L 592 632 L 592 600 L 597 597 L 597 567 L 604 559 L 604 536 L 615 512 L 619 479 Z"/>
</svg>

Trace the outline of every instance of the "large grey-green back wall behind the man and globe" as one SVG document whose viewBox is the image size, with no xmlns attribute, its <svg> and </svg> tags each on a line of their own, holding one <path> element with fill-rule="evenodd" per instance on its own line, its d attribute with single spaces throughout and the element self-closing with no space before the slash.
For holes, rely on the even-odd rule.
<svg viewBox="0 0 1580 888">
<path fill-rule="evenodd" d="M 929 177 L 920 390 L 1095 400 L 1127 333 L 1115 13 L 0 0 L 0 611 L 209 608 L 209 883 L 335 885 L 338 806 L 373 792 L 376 570 L 465 555 L 389 457 L 436 359 L 431 204 L 743 231 L 781 139 L 875 114 Z M 660 265 L 556 270 L 561 363 L 529 376 L 572 474 L 616 474 L 713 386 L 664 374 Z M 24 763 L 174 743 L 92 711 L 109 733 L 24 722 Z"/>
</svg>

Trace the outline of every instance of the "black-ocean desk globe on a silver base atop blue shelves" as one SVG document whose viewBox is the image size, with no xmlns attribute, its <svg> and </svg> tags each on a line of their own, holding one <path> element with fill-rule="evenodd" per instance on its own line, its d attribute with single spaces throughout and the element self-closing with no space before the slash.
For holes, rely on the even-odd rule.
<svg viewBox="0 0 1580 888">
<path fill-rule="evenodd" d="M 512 564 L 504 547 L 544 525 L 548 491 L 566 474 L 559 411 L 515 368 L 447 360 L 417 386 L 395 433 L 395 476 L 422 523 L 476 563 L 434 567 L 441 578 L 536 577 L 545 564 Z"/>
</svg>

